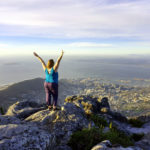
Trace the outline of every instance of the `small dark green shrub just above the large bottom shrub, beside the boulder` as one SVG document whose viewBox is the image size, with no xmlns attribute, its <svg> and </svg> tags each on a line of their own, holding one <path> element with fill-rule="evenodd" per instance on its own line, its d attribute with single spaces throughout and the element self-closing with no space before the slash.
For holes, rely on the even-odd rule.
<svg viewBox="0 0 150 150">
<path fill-rule="evenodd" d="M 95 123 L 95 125 L 99 128 L 108 126 L 107 121 L 98 115 L 91 114 L 89 115 L 89 119 L 92 120 Z"/>
</svg>

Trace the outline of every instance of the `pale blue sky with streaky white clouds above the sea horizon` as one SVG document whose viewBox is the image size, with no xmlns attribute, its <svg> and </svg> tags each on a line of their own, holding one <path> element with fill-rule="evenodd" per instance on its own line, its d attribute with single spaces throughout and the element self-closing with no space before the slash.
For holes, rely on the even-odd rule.
<svg viewBox="0 0 150 150">
<path fill-rule="evenodd" d="M 0 0 L 0 55 L 150 54 L 149 0 Z"/>
</svg>

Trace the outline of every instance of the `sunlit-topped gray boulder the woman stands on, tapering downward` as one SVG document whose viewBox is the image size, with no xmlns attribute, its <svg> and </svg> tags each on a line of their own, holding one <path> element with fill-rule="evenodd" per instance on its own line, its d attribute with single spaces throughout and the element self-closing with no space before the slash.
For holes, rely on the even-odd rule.
<svg viewBox="0 0 150 150">
<path fill-rule="evenodd" d="M 34 122 L 48 129 L 57 138 L 57 144 L 64 145 L 76 130 L 88 127 L 89 121 L 82 109 L 73 103 L 65 103 L 60 111 L 43 110 L 27 117 L 25 121 Z"/>
</svg>

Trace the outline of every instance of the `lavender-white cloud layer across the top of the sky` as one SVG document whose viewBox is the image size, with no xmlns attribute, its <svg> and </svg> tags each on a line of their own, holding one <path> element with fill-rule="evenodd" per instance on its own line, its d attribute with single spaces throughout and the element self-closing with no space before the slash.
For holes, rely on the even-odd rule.
<svg viewBox="0 0 150 150">
<path fill-rule="evenodd" d="M 149 40 L 149 8 L 149 0 L 1 0 L 0 36 Z"/>
</svg>

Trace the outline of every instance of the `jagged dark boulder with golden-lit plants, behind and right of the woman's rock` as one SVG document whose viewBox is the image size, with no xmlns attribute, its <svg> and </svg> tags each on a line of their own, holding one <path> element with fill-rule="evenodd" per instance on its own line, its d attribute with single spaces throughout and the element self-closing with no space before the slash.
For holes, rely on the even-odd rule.
<svg viewBox="0 0 150 150">
<path fill-rule="evenodd" d="M 106 114 L 108 118 L 127 123 L 127 118 L 118 112 L 111 111 L 108 98 L 92 97 L 87 95 L 69 96 L 66 102 L 74 103 L 80 107 L 86 114 Z"/>
</svg>

